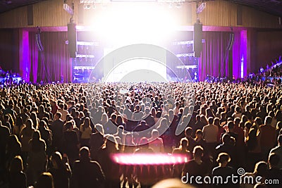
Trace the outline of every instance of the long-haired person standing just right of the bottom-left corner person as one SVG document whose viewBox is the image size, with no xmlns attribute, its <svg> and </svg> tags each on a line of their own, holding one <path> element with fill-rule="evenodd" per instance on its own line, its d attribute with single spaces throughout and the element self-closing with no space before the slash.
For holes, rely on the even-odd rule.
<svg viewBox="0 0 282 188">
<path fill-rule="evenodd" d="M 46 144 L 40 132 L 35 130 L 30 139 L 30 151 L 27 156 L 27 184 L 34 184 L 41 173 L 46 170 Z"/>
</svg>

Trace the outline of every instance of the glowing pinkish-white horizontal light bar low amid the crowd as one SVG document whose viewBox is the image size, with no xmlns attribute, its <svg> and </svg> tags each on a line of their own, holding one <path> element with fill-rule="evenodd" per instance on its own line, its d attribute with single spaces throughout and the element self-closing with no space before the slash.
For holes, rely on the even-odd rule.
<svg viewBox="0 0 282 188">
<path fill-rule="evenodd" d="M 159 153 L 138 153 L 124 154 L 116 153 L 111 159 L 121 165 L 173 165 L 186 163 L 190 160 L 182 154 L 159 154 Z"/>
</svg>

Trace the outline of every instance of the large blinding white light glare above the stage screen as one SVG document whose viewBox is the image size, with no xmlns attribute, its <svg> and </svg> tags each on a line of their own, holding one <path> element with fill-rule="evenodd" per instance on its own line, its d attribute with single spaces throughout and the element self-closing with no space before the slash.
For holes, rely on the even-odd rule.
<svg viewBox="0 0 282 188">
<path fill-rule="evenodd" d="M 179 25 L 168 7 L 157 3 L 127 2 L 102 9 L 88 23 L 99 35 L 118 45 L 157 44 Z"/>
</svg>

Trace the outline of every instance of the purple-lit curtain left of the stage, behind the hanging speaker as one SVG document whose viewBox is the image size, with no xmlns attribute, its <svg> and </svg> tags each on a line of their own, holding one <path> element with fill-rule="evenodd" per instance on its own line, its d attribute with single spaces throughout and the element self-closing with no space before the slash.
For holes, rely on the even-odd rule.
<svg viewBox="0 0 282 188">
<path fill-rule="evenodd" d="M 72 64 L 66 45 L 67 32 L 42 32 L 44 51 L 39 51 L 36 33 L 30 32 L 31 82 L 71 82 Z"/>
</svg>

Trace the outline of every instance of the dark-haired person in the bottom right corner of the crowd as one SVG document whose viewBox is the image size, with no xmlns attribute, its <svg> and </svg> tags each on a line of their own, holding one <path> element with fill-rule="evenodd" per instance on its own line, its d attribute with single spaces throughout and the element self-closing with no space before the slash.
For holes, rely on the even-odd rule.
<svg viewBox="0 0 282 188">
<path fill-rule="evenodd" d="M 278 184 L 269 184 L 269 188 L 281 187 L 282 182 L 282 170 L 278 168 L 278 164 L 281 158 L 275 153 L 271 153 L 269 156 L 269 172 L 267 173 L 267 180 L 278 180 Z"/>
</svg>

